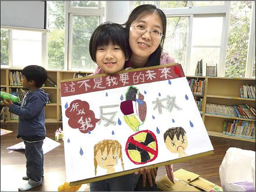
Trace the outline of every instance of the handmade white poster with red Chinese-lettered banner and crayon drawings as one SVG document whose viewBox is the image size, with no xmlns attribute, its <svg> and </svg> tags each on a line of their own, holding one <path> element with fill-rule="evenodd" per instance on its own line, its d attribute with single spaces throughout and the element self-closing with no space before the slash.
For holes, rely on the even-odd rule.
<svg viewBox="0 0 256 192">
<path fill-rule="evenodd" d="M 213 150 L 180 64 L 64 80 L 60 90 L 67 182 Z"/>
</svg>

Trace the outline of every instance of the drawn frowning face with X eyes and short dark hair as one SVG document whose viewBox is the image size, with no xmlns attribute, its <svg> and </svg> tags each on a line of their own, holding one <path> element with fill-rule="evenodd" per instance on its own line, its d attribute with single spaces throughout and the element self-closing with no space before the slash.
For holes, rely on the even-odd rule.
<svg viewBox="0 0 256 192">
<path fill-rule="evenodd" d="M 178 153 L 179 157 L 186 156 L 187 136 L 182 127 L 170 128 L 164 133 L 166 148 L 172 153 Z"/>
</svg>

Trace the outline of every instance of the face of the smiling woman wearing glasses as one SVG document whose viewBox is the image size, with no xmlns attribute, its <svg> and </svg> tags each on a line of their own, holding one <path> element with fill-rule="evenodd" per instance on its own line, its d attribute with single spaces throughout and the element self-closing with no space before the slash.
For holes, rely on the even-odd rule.
<svg viewBox="0 0 256 192">
<path fill-rule="evenodd" d="M 162 21 L 158 14 L 149 14 L 132 22 L 131 26 L 140 26 L 147 30 L 146 33 L 139 34 L 130 27 L 129 43 L 133 52 L 132 57 L 148 59 L 156 51 L 161 42 L 161 38 L 152 38 L 150 31 L 157 30 L 163 32 Z"/>
</svg>

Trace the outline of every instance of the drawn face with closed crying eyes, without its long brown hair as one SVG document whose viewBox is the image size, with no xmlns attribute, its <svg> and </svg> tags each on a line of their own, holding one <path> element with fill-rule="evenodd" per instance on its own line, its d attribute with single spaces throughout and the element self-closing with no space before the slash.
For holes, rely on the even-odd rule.
<svg viewBox="0 0 256 192">
<path fill-rule="evenodd" d="M 118 164 L 119 152 L 116 150 L 114 153 L 112 149 L 108 154 L 107 149 L 105 148 L 104 151 L 101 153 L 99 150 L 96 154 L 96 161 L 100 167 L 107 170 L 107 174 L 115 173 L 114 167 Z"/>
</svg>

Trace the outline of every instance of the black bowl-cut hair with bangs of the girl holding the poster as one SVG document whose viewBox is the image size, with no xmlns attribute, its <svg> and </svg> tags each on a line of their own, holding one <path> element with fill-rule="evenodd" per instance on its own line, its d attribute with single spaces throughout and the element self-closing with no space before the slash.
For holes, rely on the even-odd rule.
<svg viewBox="0 0 256 192">
<path fill-rule="evenodd" d="M 106 46 L 109 44 L 120 46 L 125 59 L 129 59 L 129 36 L 125 29 L 112 22 L 103 22 L 93 32 L 90 39 L 90 56 L 96 62 L 96 52 L 99 46 Z"/>
</svg>

